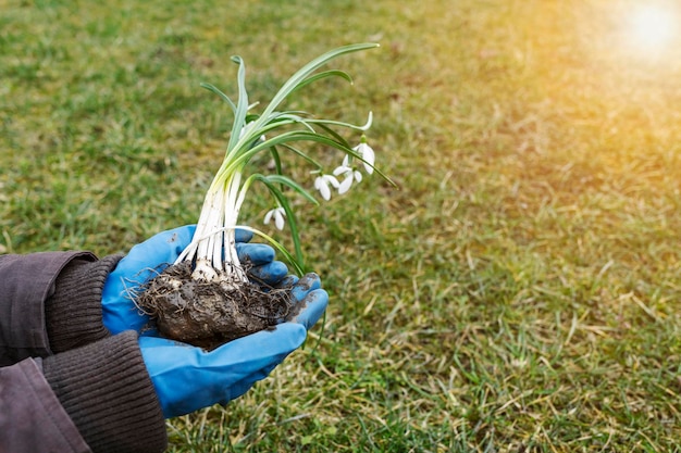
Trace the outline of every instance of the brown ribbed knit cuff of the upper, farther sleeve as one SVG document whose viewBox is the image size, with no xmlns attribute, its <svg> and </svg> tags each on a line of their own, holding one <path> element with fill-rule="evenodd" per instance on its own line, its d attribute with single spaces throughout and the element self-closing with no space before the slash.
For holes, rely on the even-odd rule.
<svg viewBox="0 0 681 453">
<path fill-rule="evenodd" d="M 101 292 L 123 255 L 89 262 L 75 259 L 57 277 L 45 314 L 50 349 L 58 353 L 109 336 L 102 323 Z"/>
</svg>

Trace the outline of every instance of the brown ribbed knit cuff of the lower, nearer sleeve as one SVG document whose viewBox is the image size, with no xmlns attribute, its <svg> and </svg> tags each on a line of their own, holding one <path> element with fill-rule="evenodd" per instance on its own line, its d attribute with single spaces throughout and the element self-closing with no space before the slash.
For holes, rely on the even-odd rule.
<svg viewBox="0 0 681 453">
<path fill-rule="evenodd" d="M 47 357 L 42 370 L 94 453 L 165 450 L 165 420 L 135 331 Z"/>
</svg>

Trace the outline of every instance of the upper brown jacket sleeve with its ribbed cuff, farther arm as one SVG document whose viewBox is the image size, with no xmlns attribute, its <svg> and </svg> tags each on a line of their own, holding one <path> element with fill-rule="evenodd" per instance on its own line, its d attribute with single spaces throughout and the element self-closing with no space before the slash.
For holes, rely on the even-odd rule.
<svg viewBox="0 0 681 453">
<path fill-rule="evenodd" d="M 121 256 L 87 252 L 0 255 L 0 366 L 109 336 L 101 290 Z"/>
</svg>

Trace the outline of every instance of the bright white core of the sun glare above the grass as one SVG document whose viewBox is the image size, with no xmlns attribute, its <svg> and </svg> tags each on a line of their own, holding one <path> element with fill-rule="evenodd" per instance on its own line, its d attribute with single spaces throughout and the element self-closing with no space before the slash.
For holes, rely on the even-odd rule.
<svg viewBox="0 0 681 453">
<path fill-rule="evenodd" d="M 631 15 L 631 42 L 647 51 L 659 51 L 670 45 L 678 30 L 678 16 L 671 8 L 645 5 Z"/>
</svg>

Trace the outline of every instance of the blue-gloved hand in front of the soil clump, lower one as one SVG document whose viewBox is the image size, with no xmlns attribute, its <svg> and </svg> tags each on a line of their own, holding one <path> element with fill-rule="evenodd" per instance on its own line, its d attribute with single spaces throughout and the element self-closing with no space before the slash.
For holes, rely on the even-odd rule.
<svg viewBox="0 0 681 453">
<path fill-rule="evenodd" d="M 302 277 L 292 291 L 296 304 L 288 320 L 210 352 L 164 338 L 139 337 L 165 418 L 240 397 L 302 344 L 307 330 L 326 310 L 329 294 L 315 274 Z"/>
</svg>

